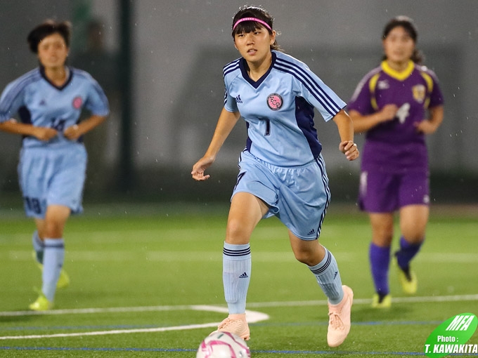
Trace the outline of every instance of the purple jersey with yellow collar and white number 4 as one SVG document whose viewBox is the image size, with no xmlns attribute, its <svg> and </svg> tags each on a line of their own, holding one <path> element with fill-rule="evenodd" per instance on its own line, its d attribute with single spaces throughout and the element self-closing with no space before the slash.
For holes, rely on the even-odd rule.
<svg viewBox="0 0 478 358">
<path fill-rule="evenodd" d="M 380 168 L 389 173 L 427 170 L 425 135 L 415 124 L 426 119 L 429 107 L 443 104 L 435 74 L 427 67 L 409 62 L 397 72 L 384 61 L 370 71 L 357 86 L 348 110 L 362 115 L 373 114 L 385 105 L 399 107 L 392 121 L 378 124 L 366 133 L 362 153 L 362 170 Z"/>
</svg>

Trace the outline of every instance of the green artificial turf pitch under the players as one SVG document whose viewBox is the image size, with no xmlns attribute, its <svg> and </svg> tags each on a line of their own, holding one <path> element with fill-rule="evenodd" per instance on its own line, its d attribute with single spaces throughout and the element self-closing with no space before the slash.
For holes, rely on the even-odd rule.
<svg viewBox="0 0 478 358">
<path fill-rule="evenodd" d="M 34 225 L 21 211 L 4 213 L 0 357 L 195 357 L 201 340 L 225 317 L 193 306 L 226 307 L 221 251 L 227 209 L 86 206 L 83 216 L 67 223 L 64 267 L 71 284 L 57 291 L 48 314 L 27 312 L 37 298 L 32 288 L 41 286 L 32 260 Z M 285 227 L 276 218 L 262 220 L 251 239 L 247 309 L 269 319 L 250 324 L 252 357 L 424 356 L 425 341 L 441 322 L 478 314 L 477 218 L 458 208 L 432 209 L 426 244 L 413 262 L 418 293 L 401 293 L 392 265 L 392 308 L 373 310 L 368 219 L 332 204 L 321 243 L 354 289 L 351 332 L 337 348 L 326 343 L 328 311 L 315 277 L 295 260 Z M 478 333 L 469 343 L 478 344 Z"/>
</svg>

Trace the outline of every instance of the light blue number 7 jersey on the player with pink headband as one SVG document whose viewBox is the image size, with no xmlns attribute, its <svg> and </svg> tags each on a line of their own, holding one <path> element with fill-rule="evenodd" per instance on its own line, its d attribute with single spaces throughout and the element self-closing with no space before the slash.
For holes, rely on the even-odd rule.
<svg viewBox="0 0 478 358">
<path fill-rule="evenodd" d="M 224 67 L 224 107 L 247 122 L 246 149 L 276 166 L 301 166 L 317 159 L 322 146 L 314 126 L 314 107 L 325 121 L 345 107 L 309 67 L 278 51 L 258 81 L 240 58 Z"/>
</svg>

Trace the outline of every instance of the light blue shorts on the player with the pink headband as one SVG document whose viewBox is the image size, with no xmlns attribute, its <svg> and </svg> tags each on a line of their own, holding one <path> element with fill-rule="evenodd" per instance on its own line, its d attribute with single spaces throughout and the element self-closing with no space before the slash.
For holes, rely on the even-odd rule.
<svg viewBox="0 0 478 358">
<path fill-rule="evenodd" d="M 248 192 L 269 205 L 264 218 L 277 216 L 303 240 L 321 234 L 330 202 L 328 177 L 322 156 L 303 166 L 274 166 L 244 151 L 239 160 L 238 181 L 233 195 Z"/>
</svg>

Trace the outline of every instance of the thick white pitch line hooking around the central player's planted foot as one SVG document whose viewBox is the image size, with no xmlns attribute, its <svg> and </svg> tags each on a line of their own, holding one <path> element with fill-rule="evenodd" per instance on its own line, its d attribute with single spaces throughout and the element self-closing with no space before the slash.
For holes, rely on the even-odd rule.
<svg viewBox="0 0 478 358">
<path fill-rule="evenodd" d="M 174 306 L 169 306 L 174 307 Z M 181 309 L 196 310 L 196 311 L 210 311 L 210 312 L 222 312 L 227 313 L 226 307 L 208 306 L 208 305 L 196 305 L 196 306 L 178 306 Z M 187 308 L 186 308 L 187 307 Z M 134 308 L 134 307 L 133 307 Z M 110 312 L 110 311 L 108 311 Z M 262 312 L 246 311 L 247 321 L 255 323 L 259 321 L 265 321 L 269 319 L 269 315 Z M 153 333 L 153 332 L 166 332 L 166 331 L 183 331 L 186 329 L 202 329 L 209 327 L 217 327 L 221 322 L 211 322 L 205 324 L 188 324 L 186 326 L 171 326 L 171 327 L 157 327 L 150 329 L 115 329 L 110 331 L 92 331 L 92 332 L 77 332 L 77 333 L 56 333 L 56 334 L 35 334 L 31 336 L 0 336 L 0 340 L 13 340 L 13 339 L 41 339 L 41 338 L 64 338 L 64 337 L 82 337 L 82 336 L 105 336 L 107 334 L 125 334 L 125 333 Z"/>
</svg>

